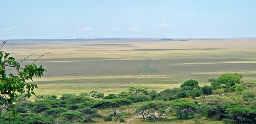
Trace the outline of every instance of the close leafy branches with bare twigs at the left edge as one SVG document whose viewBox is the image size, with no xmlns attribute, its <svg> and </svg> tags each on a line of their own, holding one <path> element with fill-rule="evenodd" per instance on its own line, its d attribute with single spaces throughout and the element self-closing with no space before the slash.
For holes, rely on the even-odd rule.
<svg viewBox="0 0 256 124">
<path fill-rule="evenodd" d="M 37 67 L 35 64 L 33 64 L 37 59 L 31 64 L 21 67 L 20 63 L 23 60 L 21 62 L 17 62 L 14 57 L 9 57 L 10 53 L 7 53 L 1 50 L 6 42 L 7 41 L 4 41 L 0 45 L 0 114 L 1 114 L 1 117 L 7 111 L 12 111 L 14 116 L 17 114 L 17 112 L 15 112 L 14 110 L 14 104 L 13 104 L 13 100 L 17 96 L 17 93 L 26 93 L 25 97 L 27 98 L 29 98 L 31 94 L 35 95 L 33 90 L 34 88 L 38 88 L 38 87 L 36 84 L 34 84 L 31 81 L 33 81 L 34 76 L 41 77 L 43 75 L 43 72 L 46 71 L 45 69 L 42 68 L 42 65 L 40 67 Z M 12 73 L 8 74 L 6 71 L 10 69 L 15 69 L 17 71 L 17 74 L 12 74 Z"/>
</svg>

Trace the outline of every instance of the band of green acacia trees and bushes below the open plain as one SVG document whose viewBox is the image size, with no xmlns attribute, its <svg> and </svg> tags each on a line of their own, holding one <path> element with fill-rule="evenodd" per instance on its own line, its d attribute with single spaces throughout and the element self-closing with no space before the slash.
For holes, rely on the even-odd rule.
<svg viewBox="0 0 256 124">
<path fill-rule="evenodd" d="M 19 95 L 15 110 L 20 124 L 126 122 L 133 114 L 140 114 L 141 121 L 148 123 L 202 118 L 227 124 L 256 122 L 255 83 L 242 83 L 242 75 L 236 73 L 209 81 L 211 86 L 200 87 L 198 81 L 188 80 L 179 88 L 159 93 L 130 87 L 128 91 L 106 96 L 97 91 L 63 94 L 60 98 L 39 95 L 34 102 Z M 131 111 L 131 106 L 135 111 Z M 1 124 L 13 121 L 17 122 L 8 114 L 0 119 Z"/>
</svg>

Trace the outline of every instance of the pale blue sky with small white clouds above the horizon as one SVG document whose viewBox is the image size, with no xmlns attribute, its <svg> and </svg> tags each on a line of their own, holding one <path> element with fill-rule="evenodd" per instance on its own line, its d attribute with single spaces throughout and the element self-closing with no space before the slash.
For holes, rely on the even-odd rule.
<svg viewBox="0 0 256 124">
<path fill-rule="evenodd" d="M 256 0 L 0 0 L 0 39 L 256 37 Z"/>
</svg>

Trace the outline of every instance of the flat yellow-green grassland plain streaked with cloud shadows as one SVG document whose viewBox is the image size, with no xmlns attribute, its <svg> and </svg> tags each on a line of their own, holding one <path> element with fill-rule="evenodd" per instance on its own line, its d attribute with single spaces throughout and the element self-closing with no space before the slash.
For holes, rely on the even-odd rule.
<svg viewBox="0 0 256 124">
<path fill-rule="evenodd" d="M 188 79 L 200 85 L 224 73 L 241 73 L 245 82 L 256 78 L 256 38 L 187 39 L 41 39 L 9 40 L 3 50 L 47 72 L 36 94 L 106 94 L 130 86 L 162 91 Z M 11 72 L 12 70 L 10 70 Z"/>
</svg>

